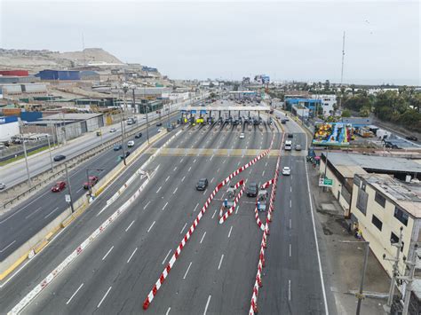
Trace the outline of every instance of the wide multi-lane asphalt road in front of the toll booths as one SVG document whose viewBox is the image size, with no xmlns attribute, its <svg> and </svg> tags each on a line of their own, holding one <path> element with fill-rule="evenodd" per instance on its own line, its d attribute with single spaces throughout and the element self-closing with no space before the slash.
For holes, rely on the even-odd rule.
<svg viewBox="0 0 421 315">
<path fill-rule="evenodd" d="M 289 122 L 286 126 L 290 132 L 298 129 L 292 125 Z M 148 165 L 149 171 L 158 170 L 123 217 L 46 287 L 24 313 L 143 312 L 145 297 L 211 190 L 234 169 L 250 161 L 254 157 L 251 153 L 255 154 L 253 149 L 266 149 L 273 135 L 267 126 L 263 132 L 253 127 L 240 139 L 239 131 L 229 129 L 226 131 L 224 126 L 220 130 L 218 125 L 193 127 L 174 139 L 170 148 L 179 150 L 172 154 L 168 150 Z M 275 132 L 274 136 L 276 151 L 282 133 Z M 296 141 L 306 147 L 303 133 L 294 133 Z M 219 156 L 220 149 L 229 149 L 229 156 Z M 262 313 L 322 314 L 321 279 L 304 185 L 306 152 L 282 154 L 282 166 L 289 165 L 292 176 L 280 177 L 258 308 Z M 142 162 L 139 159 L 132 168 L 139 168 Z M 234 177 L 232 183 L 241 178 L 263 183 L 274 176 L 275 163 L 276 156 L 266 156 Z M 195 190 L 200 177 L 210 181 L 204 193 Z M 102 211 L 123 178 L 120 181 L 4 286 L 0 291 L 0 310 L 9 311 L 19 303 L 140 185 L 140 181 L 134 183 L 112 207 Z M 249 311 L 262 235 L 254 218 L 256 200 L 244 194 L 235 214 L 218 224 L 218 209 L 225 192 L 226 188 L 222 189 L 212 201 L 145 313 Z"/>
</svg>

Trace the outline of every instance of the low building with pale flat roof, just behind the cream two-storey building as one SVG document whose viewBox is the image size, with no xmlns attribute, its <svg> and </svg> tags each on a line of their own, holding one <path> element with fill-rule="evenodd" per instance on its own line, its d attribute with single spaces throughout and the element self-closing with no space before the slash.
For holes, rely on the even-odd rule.
<svg viewBox="0 0 421 315">
<path fill-rule="evenodd" d="M 328 165 L 326 167 L 326 155 Z M 351 199 L 355 174 L 386 174 L 402 181 L 410 178 L 421 180 L 421 159 L 367 154 L 322 153 L 320 174 L 333 180 L 331 193 L 344 209 L 345 217 L 352 217 Z"/>
</svg>

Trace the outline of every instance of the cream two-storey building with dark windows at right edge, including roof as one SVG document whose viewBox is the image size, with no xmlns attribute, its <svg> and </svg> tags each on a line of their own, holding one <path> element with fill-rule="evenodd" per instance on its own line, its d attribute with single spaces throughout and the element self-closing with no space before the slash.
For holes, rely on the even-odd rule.
<svg viewBox="0 0 421 315">
<path fill-rule="evenodd" d="M 369 248 L 392 276 L 393 262 L 383 259 L 394 257 L 402 232 L 399 271 L 406 269 L 403 257 L 409 257 L 416 242 L 421 241 L 421 185 L 402 183 L 384 174 L 355 175 L 353 178 L 351 210 L 356 218 L 356 227 L 361 230 Z"/>
</svg>

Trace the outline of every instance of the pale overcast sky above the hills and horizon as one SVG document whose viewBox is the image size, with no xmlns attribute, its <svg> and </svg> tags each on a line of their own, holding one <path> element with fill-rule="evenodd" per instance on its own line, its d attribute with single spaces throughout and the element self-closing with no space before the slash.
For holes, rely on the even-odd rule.
<svg viewBox="0 0 421 315">
<path fill-rule="evenodd" d="M 100 47 L 176 79 L 421 84 L 418 1 L 0 0 L 0 46 Z"/>
</svg>

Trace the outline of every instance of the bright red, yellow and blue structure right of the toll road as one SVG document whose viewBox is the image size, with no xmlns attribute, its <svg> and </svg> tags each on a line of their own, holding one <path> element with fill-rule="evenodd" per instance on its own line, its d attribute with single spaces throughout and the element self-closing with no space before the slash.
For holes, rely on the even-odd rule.
<svg viewBox="0 0 421 315">
<path fill-rule="evenodd" d="M 314 125 L 314 146 L 349 146 L 353 126 L 342 122 L 321 122 Z"/>
</svg>

